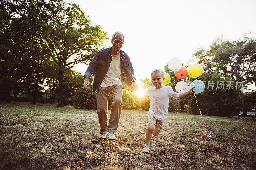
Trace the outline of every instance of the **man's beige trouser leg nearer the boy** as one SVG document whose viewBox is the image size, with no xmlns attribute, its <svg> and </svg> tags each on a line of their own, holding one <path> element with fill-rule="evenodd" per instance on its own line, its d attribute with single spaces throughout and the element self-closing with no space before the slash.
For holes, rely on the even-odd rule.
<svg viewBox="0 0 256 170">
<path fill-rule="evenodd" d="M 108 132 L 115 133 L 118 127 L 121 111 L 122 111 L 122 85 L 111 86 L 113 96 L 112 109 L 109 117 Z"/>
</svg>

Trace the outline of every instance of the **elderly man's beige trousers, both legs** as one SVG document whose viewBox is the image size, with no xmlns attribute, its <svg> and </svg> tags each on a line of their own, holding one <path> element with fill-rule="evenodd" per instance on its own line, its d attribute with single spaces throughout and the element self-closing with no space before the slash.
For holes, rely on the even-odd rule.
<svg viewBox="0 0 256 170">
<path fill-rule="evenodd" d="M 118 127 L 121 111 L 122 111 L 122 85 L 113 85 L 109 87 L 100 87 L 98 90 L 97 99 L 97 114 L 100 123 L 100 134 L 107 132 L 115 133 Z M 109 117 L 109 125 L 107 123 L 108 117 L 108 95 L 112 93 L 113 102 Z"/>
</svg>

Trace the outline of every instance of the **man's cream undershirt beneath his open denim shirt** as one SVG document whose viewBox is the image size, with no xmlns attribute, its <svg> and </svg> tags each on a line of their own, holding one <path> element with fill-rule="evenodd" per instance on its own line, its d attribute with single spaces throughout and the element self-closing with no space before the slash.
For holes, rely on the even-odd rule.
<svg viewBox="0 0 256 170">
<path fill-rule="evenodd" d="M 100 87 L 108 87 L 112 85 L 123 85 L 123 74 L 124 72 L 122 70 L 120 58 L 118 60 L 115 60 L 112 57 L 112 61 L 110 63 L 108 72 L 105 78 L 103 79 L 102 83 L 100 84 Z"/>
</svg>

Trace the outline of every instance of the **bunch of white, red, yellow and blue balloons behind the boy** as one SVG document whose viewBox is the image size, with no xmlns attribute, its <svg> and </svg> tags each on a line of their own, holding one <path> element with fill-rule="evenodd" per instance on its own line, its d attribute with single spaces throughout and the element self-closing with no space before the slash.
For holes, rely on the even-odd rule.
<svg viewBox="0 0 256 170">
<path fill-rule="evenodd" d="M 188 69 L 182 65 L 182 62 L 179 58 L 173 57 L 168 62 L 168 67 L 170 70 L 174 71 L 174 74 L 177 78 L 182 79 L 176 84 L 175 90 L 178 93 L 186 92 L 189 90 L 189 87 L 195 87 L 195 94 L 199 94 L 204 91 L 205 85 L 201 80 L 195 80 L 190 85 L 188 81 L 184 81 L 188 75 L 193 78 L 197 78 L 202 75 L 203 69 L 200 64 L 192 64 Z M 164 72 L 164 83 L 163 85 L 169 84 L 171 78 L 168 73 Z"/>
</svg>

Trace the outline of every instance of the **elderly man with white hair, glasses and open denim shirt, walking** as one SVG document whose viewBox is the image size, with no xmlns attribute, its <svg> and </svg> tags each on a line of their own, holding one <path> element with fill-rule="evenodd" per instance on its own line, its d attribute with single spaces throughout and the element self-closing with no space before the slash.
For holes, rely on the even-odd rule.
<svg viewBox="0 0 256 170">
<path fill-rule="evenodd" d="M 129 91 L 138 88 L 132 63 L 129 56 L 121 49 L 124 44 L 124 34 L 115 32 L 112 35 L 112 47 L 98 52 L 92 59 L 88 69 L 84 73 L 83 89 L 87 92 L 89 78 L 95 73 L 92 95 L 98 92 L 97 114 L 100 123 L 99 138 L 116 140 L 117 130 L 122 111 L 122 89 Z M 113 102 L 107 124 L 108 95 L 112 93 Z"/>
</svg>

